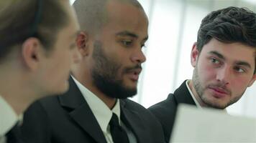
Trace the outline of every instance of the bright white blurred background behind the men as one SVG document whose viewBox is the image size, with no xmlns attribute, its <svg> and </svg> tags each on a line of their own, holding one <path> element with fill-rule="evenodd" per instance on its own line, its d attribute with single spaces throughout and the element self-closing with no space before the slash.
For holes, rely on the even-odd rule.
<svg viewBox="0 0 256 143">
<path fill-rule="evenodd" d="M 70 4 L 73 4 L 70 0 Z M 201 20 L 216 9 L 227 6 L 247 7 L 256 11 L 256 0 L 139 0 L 150 20 L 149 40 L 144 49 L 137 96 L 132 100 L 150 107 L 173 93 L 186 79 L 191 79 L 193 67 L 190 54 L 196 41 Z M 227 108 L 233 115 L 256 117 L 256 83 L 247 89 L 242 99 Z"/>
</svg>

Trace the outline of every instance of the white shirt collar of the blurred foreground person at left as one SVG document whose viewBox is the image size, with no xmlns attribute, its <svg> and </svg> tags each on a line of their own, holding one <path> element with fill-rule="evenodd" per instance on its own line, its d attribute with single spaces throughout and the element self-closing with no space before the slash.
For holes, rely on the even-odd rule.
<svg viewBox="0 0 256 143">
<path fill-rule="evenodd" d="M 18 116 L 14 109 L 0 95 L 0 143 L 5 143 L 5 134 L 17 123 Z"/>
</svg>

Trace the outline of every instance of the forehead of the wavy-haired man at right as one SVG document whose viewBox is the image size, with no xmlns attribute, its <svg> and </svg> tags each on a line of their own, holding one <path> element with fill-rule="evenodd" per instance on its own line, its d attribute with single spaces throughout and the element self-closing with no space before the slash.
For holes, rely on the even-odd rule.
<svg viewBox="0 0 256 143">
<path fill-rule="evenodd" d="M 255 63 L 255 48 L 241 43 L 225 44 L 211 39 L 208 44 L 204 45 L 201 54 L 210 54 L 210 51 L 217 51 L 225 59 Z"/>
</svg>

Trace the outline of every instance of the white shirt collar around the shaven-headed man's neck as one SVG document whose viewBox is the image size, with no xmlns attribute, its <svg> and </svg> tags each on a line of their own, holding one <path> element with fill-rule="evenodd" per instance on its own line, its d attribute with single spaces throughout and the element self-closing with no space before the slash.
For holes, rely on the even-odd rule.
<svg viewBox="0 0 256 143">
<path fill-rule="evenodd" d="M 91 111 L 93 112 L 94 117 L 96 117 L 96 120 L 99 123 L 99 126 L 101 127 L 101 130 L 103 132 L 107 131 L 107 127 L 109 125 L 113 112 L 119 118 L 119 124 L 120 124 L 119 99 L 116 100 L 116 104 L 114 105 L 114 108 L 111 110 L 109 109 L 108 106 L 106 106 L 106 104 L 101 99 L 99 99 L 99 97 L 97 97 L 89 89 L 84 87 L 83 84 L 78 82 L 74 77 L 72 78 L 74 79 L 76 85 L 78 86 L 78 89 L 80 89 L 81 93 L 83 94 L 84 99 L 86 99 L 86 102 L 91 108 Z"/>
</svg>

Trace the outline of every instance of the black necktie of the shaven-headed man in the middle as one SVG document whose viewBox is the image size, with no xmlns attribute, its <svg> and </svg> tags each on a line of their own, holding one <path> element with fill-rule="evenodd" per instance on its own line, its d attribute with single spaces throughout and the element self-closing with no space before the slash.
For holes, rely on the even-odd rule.
<svg viewBox="0 0 256 143">
<path fill-rule="evenodd" d="M 112 114 L 109 126 L 114 143 L 129 143 L 127 132 L 119 125 L 118 117 L 114 113 Z"/>
</svg>

